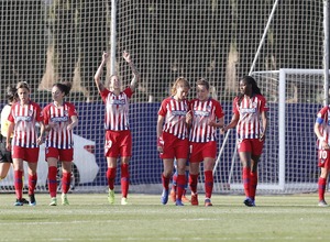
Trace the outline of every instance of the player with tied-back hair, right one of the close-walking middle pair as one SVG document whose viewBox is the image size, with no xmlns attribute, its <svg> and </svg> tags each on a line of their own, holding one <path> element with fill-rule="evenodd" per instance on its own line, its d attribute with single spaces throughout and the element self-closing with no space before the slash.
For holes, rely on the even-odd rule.
<svg viewBox="0 0 330 242">
<path fill-rule="evenodd" d="M 198 206 L 197 183 L 199 163 L 204 161 L 205 174 L 205 206 L 212 206 L 213 166 L 217 156 L 216 129 L 223 128 L 222 107 L 209 95 L 209 82 L 205 79 L 197 81 L 197 98 L 190 101 L 193 123 L 190 128 L 189 186 L 191 205 Z"/>
</svg>

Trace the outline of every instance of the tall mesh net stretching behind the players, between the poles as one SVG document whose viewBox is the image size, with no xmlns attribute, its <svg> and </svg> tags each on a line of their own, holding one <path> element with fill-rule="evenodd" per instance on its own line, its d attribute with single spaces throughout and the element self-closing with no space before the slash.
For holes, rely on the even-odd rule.
<svg viewBox="0 0 330 242">
<path fill-rule="evenodd" d="M 161 189 L 163 165 L 156 152 L 157 110 L 160 102 L 169 96 L 170 86 L 178 76 L 185 76 L 193 87 L 198 78 L 206 78 L 211 85 L 212 96 L 223 107 L 226 123 L 230 121 L 232 99 L 238 92 L 238 77 L 249 74 L 273 6 L 273 0 L 117 1 L 117 72 L 123 85 L 128 85 L 132 73 L 121 57 L 127 50 L 141 73 L 141 81 L 130 108 L 133 133 L 130 166 L 132 191 L 158 193 Z M 322 68 L 322 1 L 279 1 L 254 70 Z M 79 125 L 75 129 L 75 134 L 82 140 L 76 142 L 81 145 L 75 152 L 82 157 L 75 161 L 78 180 L 75 189 L 81 191 L 103 191 L 107 187 L 102 124 L 105 107 L 95 86 L 94 75 L 101 62 L 102 52 L 110 51 L 110 16 L 111 1 L 106 0 L 0 2 L 1 108 L 6 105 L 7 86 L 20 80 L 31 85 L 32 99 L 42 107 L 52 101 L 50 90 L 54 82 L 73 82 L 74 88 L 67 100 L 76 105 L 79 113 Z M 102 80 L 106 81 L 109 76 L 108 66 L 107 78 L 105 74 Z M 267 173 L 264 182 L 273 183 L 278 176 L 278 78 L 271 78 L 268 74 L 267 77 L 257 77 L 258 86 L 270 102 L 268 118 L 273 123 L 262 160 L 273 162 L 270 164 L 262 161 L 260 170 Z M 308 147 L 300 143 L 290 144 L 300 163 L 295 163 L 296 166 L 288 169 L 297 169 L 294 175 L 296 183 L 306 176 L 311 176 L 311 183 L 316 183 L 318 170 L 317 157 L 312 154 L 314 119 L 306 117 L 316 114 L 314 106 L 319 107 L 322 101 L 321 95 L 316 94 L 322 94 L 322 87 L 301 85 L 295 92 L 294 81 L 290 81 L 288 79 L 288 87 L 292 86 L 288 95 L 293 97 L 287 98 L 287 111 L 300 110 L 302 117 L 289 122 L 288 129 L 295 130 L 301 125 L 310 128 L 304 132 L 309 133 L 308 139 L 311 141 L 307 142 Z M 305 94 L 310 95 L 300 98 Z M 189 98 L 195 96 L 193 88 Z M 235 168 L 231 170 L 234 132 L 231 135 L 216 173 L 217 193 L 242 191 L 240 186 L 228 185 L 229 178 L 230 183 L 241 183 L 237 158 Z M 218 136 L 220 147 L 223 136 Z M 304 155 L 306 150 L 308 158 Z M 302 161 L 304 164 L 315 164 L 302 170 Z M 40 161 L 41 190 L 46 189 L 45 167 L 46 163 Z M 200 182 L 204 182 L 202 176 Z M 12 184 L 10 172 L 0 185 Z M 304 188 L 297 191 L 301 190 Z"/>
</svg>

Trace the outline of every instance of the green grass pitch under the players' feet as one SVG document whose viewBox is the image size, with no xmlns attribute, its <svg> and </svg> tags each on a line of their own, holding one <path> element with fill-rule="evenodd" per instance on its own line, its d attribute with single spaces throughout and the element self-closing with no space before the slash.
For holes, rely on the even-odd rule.
<svg viewBox="0 0 330 242">
<path fill-rule="evenodd" d="M 0 241 L 329 241 L 330 207 L 318 196 L 258 196 L 248 208 L 243 196 L 215 195 L 213 207 L 163 206 L 160 195 L 130 195 L 110 206 L 105 194 L 70 194 L 70 205 L 14 207 L 0 194 Z M 200 197 L 202 197 L 200 195 Z M 58 196 L 61 200 L 61 196 Z M 200 199 L 201 200 L 201 199 Z"/>
</svg>

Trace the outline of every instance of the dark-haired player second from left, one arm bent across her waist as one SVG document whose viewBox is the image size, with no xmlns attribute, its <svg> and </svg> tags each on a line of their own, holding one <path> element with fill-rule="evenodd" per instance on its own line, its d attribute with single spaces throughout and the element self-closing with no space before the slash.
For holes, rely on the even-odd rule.
<svg viewBox="0 0 330 242">
<path fill-rule="evenodd" d="M 57 162 L 62 162 L 62 205 L 69 205 L 67 193 L 70 187 L 72 162 L 74 160 L 73 129 L 78 124 L 78 116 L 73 103 L 64 100 L 72 85 L 54 84 L 52 88 L 53 102 L 43 110 L 46 135 L 46 161 L 48 163 L 50 206 L 56 206 Z"/>
</svg>

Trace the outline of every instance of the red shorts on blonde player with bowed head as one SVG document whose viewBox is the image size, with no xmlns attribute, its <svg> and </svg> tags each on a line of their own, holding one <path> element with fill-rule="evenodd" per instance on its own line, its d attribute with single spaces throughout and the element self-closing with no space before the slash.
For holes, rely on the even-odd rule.
<svg viewBox="0 0 330 242">
<path fill-rule="evenodd" d="M 189 141 L 180 140 L 172 133 L 163 132 L 164 152 L 160 154 L 161 158 L 188 158 Z"/>
</svg>

